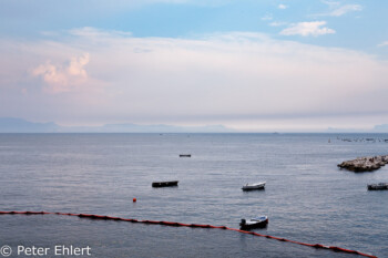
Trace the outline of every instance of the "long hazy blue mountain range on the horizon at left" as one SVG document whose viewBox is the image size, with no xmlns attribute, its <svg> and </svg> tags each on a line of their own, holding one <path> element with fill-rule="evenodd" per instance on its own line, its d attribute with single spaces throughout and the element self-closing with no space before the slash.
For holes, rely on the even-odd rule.
<svg viewBox="0 0 388 258">
<path fill-rule="evenodd" d="M 175 126 L 105 124 L 102 126 L 61 126 L 53 122 L 33 123 L 22 118 L 0 117 L 0 133 L 229 133 L 223 125 Z"/>
</svg>

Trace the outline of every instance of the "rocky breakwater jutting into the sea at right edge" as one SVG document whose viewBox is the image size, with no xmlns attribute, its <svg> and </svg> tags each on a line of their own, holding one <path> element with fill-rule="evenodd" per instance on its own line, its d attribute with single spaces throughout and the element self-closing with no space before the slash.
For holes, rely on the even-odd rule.
<svg viewBox="0 0 388 258">
<path fill-rule="evenodd" d="M 388 163 L 388 155 L 375 157 L 357 157 L 353 161 L 346 161 L 338 164 L 340 168 L 353 172 L 372 172 Z"/>
</svg>

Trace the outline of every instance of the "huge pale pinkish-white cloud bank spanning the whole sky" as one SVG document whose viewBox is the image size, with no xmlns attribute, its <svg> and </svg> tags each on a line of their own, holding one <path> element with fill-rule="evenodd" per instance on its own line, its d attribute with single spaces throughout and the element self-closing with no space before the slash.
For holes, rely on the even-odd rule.
<svg viewBox="0 0 388 258">
<path fill-rule="evenodd" d="M 0 116 L 327 127 L 346 114 L 388 114 L 388 64 L 363 52 L 253 32 L 173 39 L 82 30 L 51 41 L 0 40 L 0 73 L 8 74 L 0 76 Z"/>
</svg>

